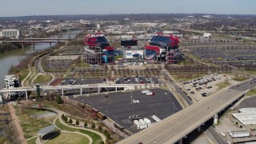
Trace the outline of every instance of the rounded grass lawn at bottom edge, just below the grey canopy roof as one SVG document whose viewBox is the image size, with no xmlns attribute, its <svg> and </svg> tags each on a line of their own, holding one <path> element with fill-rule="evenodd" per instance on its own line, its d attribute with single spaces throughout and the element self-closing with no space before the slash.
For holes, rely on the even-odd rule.
<svg viewBox="0 0 256 144">
<path fill-rule="evenodd" d="M 72 143 L 72 144 L 86 144 L 89 143 L 89 139 L 80 134 L 72 133 L 61 133 L 58 137 L 47 141 L 46 144 L 61 144 L 61 143 Z"/>
</svg>

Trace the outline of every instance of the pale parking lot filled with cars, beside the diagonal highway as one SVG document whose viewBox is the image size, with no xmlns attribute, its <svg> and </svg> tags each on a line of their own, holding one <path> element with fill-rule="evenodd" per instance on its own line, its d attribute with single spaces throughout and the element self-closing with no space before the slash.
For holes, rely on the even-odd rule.
<svg viewBox="0 0 256 144">
<path fill-rule="evenodd" d="M 231 77 L 225 74 L 209 74 L 202 78 L 182 82 L 182 86 L 183 89 L 185 89 L 186 94 L 189 94 L 192 98 L 199 101 L 218 91 L 219 89 L 216 84 L 224 82 L 225 80 L 230 81 L 230 79 Z"/>
</svg>

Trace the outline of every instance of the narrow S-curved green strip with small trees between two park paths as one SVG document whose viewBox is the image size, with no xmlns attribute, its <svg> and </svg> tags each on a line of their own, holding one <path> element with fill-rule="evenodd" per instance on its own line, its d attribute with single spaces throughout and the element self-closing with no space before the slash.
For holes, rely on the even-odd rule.
<svg viewBox="0 0 256 144">
<path fill-rule="evenodd" d="M 68 126 L 68 124 L 64 125 L 63 122 L 60 122 L 62 121 L 62 119 L 60 118 L 56 118 L 55 119 L 55 125 L 61 129 L 61 130 L 66 130 L 66 131 L 76 131 L 76 132 L 80 132 L 82 134 L 87 134 L 90 136 L 90 138 L 93 139 L 93 144 L 101 144 L 102 142 L 104 143 L 104 141 L 106 142 L 106 139 L 104 139 L 102 141 L 102 137 L 92 131 L 89 131 L 89 130 L 83 130 L 82 128 L 79 128 L 79 127 L 75 127 L 75 126 Z"/>
</svg>

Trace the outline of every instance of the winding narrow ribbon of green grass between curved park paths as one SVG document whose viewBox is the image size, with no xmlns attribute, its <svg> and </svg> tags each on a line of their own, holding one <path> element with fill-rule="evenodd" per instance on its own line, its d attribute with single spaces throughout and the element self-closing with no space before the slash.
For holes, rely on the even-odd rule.
<svg viewBox="0 0 256 144">
<path fill-rule="evenodd" d="M 88 134 L 90 136 L 90 138 L 93 139 L 93 144 L 98 144 L 98 143 L 102 142 L 102 138 L 98 134 L 95 134 L 95 133 L 87 131 L 87 130 L 74 129 L 69 126 L 62 125 L 62 123 L 59 122 L 59 119 L 56 120 L 55 125 L 58 126 L 58 128 L 60 128 L 62 130 L 78 131 L 83 134 Z"/>
</svg>

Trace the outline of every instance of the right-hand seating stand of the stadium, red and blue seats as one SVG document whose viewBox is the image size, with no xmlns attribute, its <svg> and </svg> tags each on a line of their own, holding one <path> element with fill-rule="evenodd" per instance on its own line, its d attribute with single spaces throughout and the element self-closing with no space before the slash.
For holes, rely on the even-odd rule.
<svg viewBox="0 0 256 144">
<path fill-rule="evenodd" d="M 182 52 L 179 50 L 178 37 L 173 34 L 153 36 L 150 45 L 145 46 L 147 62 L 166 62 L 168 64 L 178 63 L 182 60 Z"/>
</svg>

